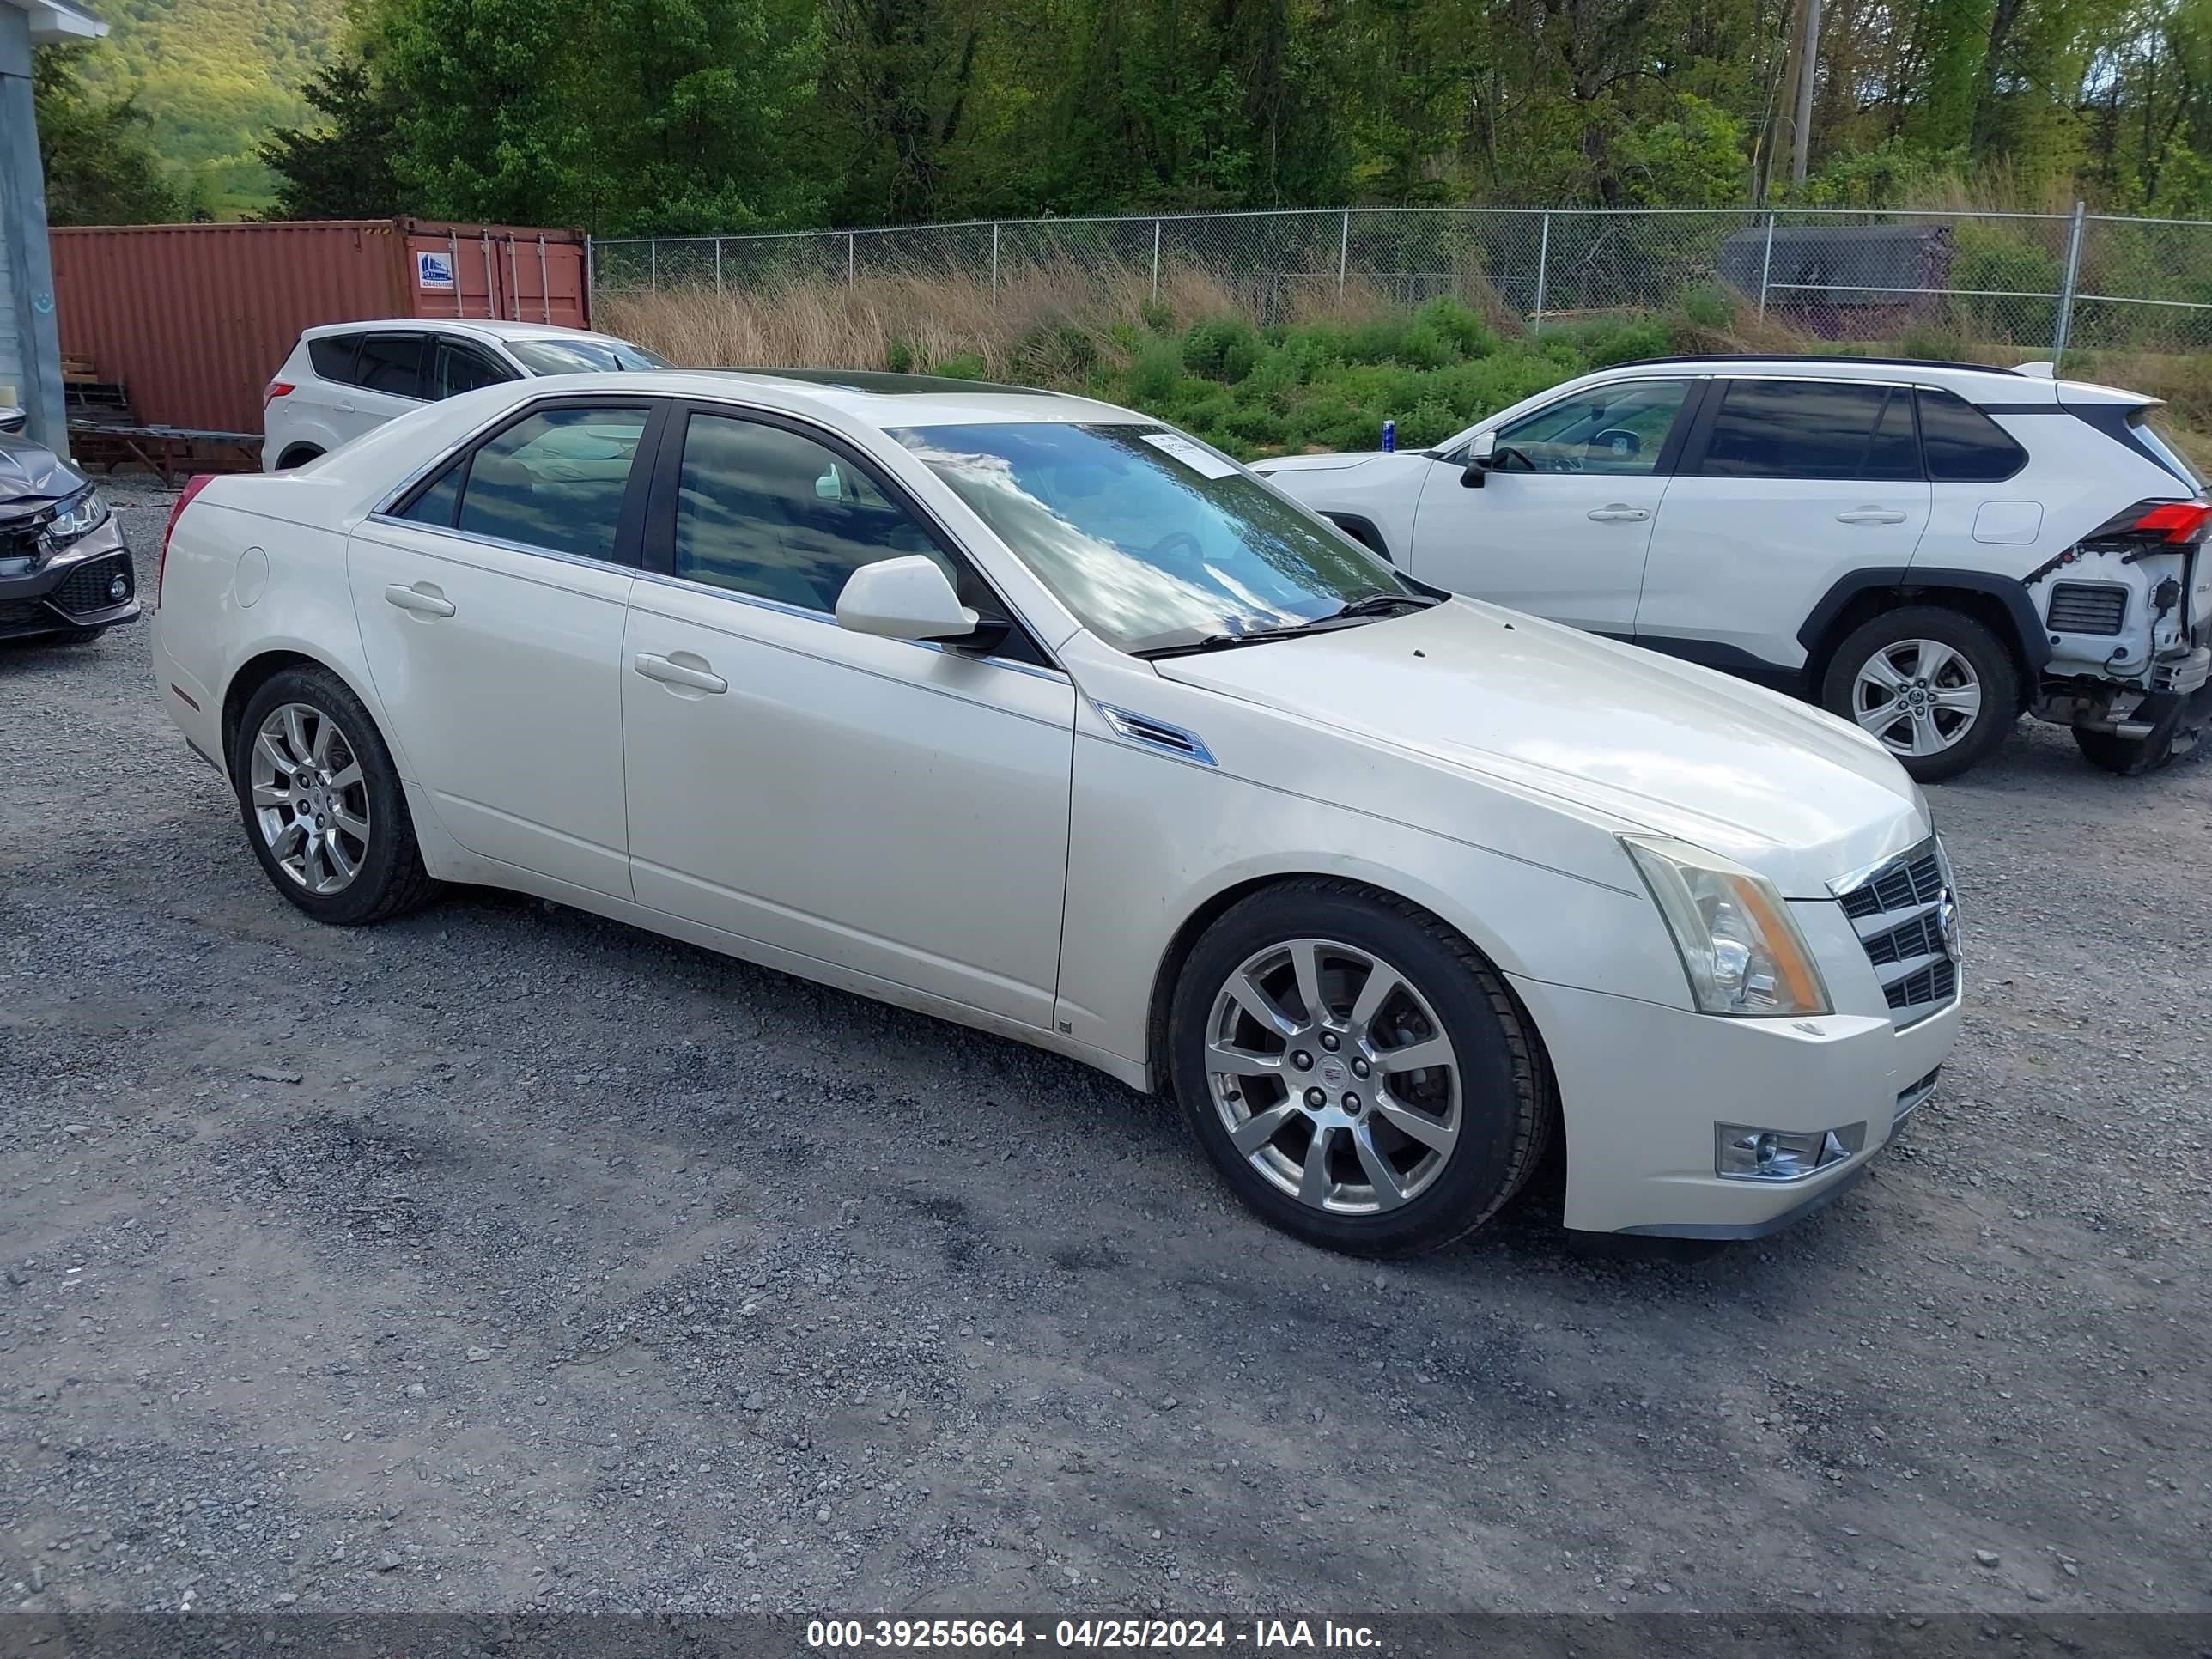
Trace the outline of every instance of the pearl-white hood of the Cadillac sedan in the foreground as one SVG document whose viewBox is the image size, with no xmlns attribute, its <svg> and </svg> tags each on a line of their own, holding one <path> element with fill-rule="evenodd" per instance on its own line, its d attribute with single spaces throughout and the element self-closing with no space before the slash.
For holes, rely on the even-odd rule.
<svg viewBox="0 0 2212 1659">
<path fill-rule="evenodd" d="M 1787 898 L 1927 834 L 1918 787 L 1856 728 L 1475 599 L 1152 666 L 1728 854 Z"/>
</svg>

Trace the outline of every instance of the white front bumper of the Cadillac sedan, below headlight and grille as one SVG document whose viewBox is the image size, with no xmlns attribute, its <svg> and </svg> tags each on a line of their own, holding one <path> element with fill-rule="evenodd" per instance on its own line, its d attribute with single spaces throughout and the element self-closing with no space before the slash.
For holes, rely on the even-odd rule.
<svg viewBox="0 0 2212 1659">
<path fill-rule="evenodd" d="M 1548 1033 L 1566 1225 L 1674 1239 L 1756 1239 L 1834 1199 L 1927 1099 L 1960 1022 L 1955 1000 L 1898 1029 L 1863 995 L 1838 993 L 1856 1013 L 1723 1020 L 1535 980 L 1513 989 Z M 1714 1172 L 1717 1124 L 1865 1130 L 1854 1152 L 1803 1179 L 1747 1181 Z"/>
</svg>

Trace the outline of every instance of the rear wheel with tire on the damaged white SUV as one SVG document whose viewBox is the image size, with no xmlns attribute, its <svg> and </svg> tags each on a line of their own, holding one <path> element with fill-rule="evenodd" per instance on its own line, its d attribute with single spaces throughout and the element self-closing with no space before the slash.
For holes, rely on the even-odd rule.
<svg viewBox="0 0 2212 1659">
<path fill-rule="evenodd" d="M 2020 719 L 2020 672 L 1997 635 L 1936 604 L 1885 611 L 1836 646 L 1820 706 L 1880 739 L 1920 783 L 1955 779 Z"/>
</svg>

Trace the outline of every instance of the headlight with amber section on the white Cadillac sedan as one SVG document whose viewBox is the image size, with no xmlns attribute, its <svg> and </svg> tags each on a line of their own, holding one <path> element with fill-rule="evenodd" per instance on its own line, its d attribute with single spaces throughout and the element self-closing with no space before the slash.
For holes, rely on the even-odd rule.
<svg viewBox="0 0 2212 1659">
<path fill-rule="evenodd" d="M 1621 836 L 1674 936 L 1699 1013 L 1829 1013 L 1827 984 L 1774 883 L 1668 836 Z"/>
</svg>

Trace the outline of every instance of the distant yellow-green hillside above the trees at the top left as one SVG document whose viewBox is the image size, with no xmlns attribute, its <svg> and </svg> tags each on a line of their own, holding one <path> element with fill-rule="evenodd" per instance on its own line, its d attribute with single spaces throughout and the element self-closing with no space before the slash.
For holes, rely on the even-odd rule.
<svg viewBox="0 0 2212 1659">
<path fill-rule="evenodd" d="M 252 159 L 272 126 L 310 111 L 299 88 L 330 53 L 343 0 L 93 0 L 113 27 L 86 64 L 102 95 L 137 91 L 155 150 L 204 184 L 217 217 L 270 197 Z"/>
</svg>

